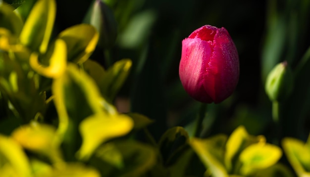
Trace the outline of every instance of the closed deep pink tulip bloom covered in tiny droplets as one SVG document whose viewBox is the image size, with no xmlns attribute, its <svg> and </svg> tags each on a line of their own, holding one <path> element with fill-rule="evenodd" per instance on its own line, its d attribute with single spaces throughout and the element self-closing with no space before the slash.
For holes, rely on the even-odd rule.
<svg viewBox="0 0 310 177">
<path fill-rule="evenodd" d="M 184 39 L 179 75 L 198 101 L 219 103 L 230 96 L 239 80 L 239 57 L 227 30 L 205 25 Z"/>
</svg>

